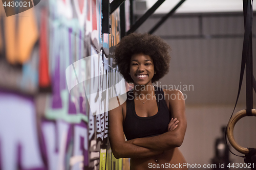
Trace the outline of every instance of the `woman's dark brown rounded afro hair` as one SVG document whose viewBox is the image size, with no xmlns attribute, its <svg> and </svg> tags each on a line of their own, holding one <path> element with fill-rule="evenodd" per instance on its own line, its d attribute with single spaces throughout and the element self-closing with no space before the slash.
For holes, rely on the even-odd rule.
<svg viewBox="0 0 256 170">
<path fill-rule="evenodd" d="M 128 83 L 133 83 L 129 75 L 131 57 L 134 54 L 143 53 L 153 59 L 156 74 L 152 83 L 160 80 L 169 71 L 170 46 L 160 37 L 147 33 L 132 33 L 123 37 L 117 44 L 114 53 L 114 60 L 118 65 L 118 71 Z"/>
</svg>

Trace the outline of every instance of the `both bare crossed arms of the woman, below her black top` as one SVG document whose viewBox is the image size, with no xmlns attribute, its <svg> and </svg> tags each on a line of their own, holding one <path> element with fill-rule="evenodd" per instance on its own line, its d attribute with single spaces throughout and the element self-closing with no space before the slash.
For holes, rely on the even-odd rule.
<svg viewBox="0 0 256 170">
<path fill-rule="evenodd" d="M 183 96 L 179 90 L 165 90 L 168 96 L 172 94 Z M 123 133 L 123 105 L 109 111 L 109 139 L 115 158 L 145 158 L 159 155 L 165 150 L 180 147 L 186 131 L 184 98 L 166 99 L 173 119 L 168 125 L 168 131 L 158 136 L 136 138 L 125 141 Z M 177 119 L 175 119 L 177 118 Z M 179 124 L 178 124 L 179 123 Z"/>
</svg>

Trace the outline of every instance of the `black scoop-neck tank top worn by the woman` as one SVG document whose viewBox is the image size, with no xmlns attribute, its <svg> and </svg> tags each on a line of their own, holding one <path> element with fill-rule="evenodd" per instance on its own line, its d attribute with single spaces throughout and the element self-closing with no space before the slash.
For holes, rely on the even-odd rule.
<svg viewBox="0 0 256 170">
<path fill-rule="evenodd" d="M 126 117 L 123 124 L 123 132 L 127 140 L 156 136 L 167 132 L 172 115 L 166 105 L 162 88 L 155 86 L 158 112 L 150 117 L 140 117 L 136 114 L 133 89 L 127 91 L 126 94 Z"/>
</svg>

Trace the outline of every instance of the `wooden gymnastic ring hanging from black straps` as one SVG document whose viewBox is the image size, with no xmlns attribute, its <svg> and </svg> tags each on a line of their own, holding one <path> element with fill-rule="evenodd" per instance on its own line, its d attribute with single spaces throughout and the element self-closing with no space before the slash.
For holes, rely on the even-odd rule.
<svg viewBox="0 0 256 170">
<path fill-rule="evenodd" d="M 252 115 L 256 116 L 256 110 L 251 109 Z M 246 110 L 241 110 L 237 112 L 228 122 L 227 124 L 227 138 L 234 149 L 242 154 L 248 154 L 249 150 L 247 148 L 241 147 L 235 140 L 234 140 L 234 125 L 240 120 L 241 118 L 247 116 Z"/>
</svg>

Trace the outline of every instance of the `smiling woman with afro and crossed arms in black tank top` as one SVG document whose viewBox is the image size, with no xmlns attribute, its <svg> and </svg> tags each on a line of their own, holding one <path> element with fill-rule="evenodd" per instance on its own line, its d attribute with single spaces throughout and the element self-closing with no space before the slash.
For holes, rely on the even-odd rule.
<svg viewBox="0 0 256 170">
<path fill-rule="evenodd" d="M 131 169 L 187 169 L 178 147 L 186 131 L 184 96 L 154 87 L 169 69 L 169 45 L 148 34 L 130 34 L 115 50 L 119 72 L 134 88 L 109 111 L 109 139 L 116 158 L 131 158 Z M 127 138 L 125 140 L 124 134 Z"/>
</svg>

